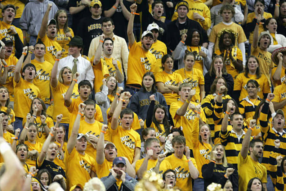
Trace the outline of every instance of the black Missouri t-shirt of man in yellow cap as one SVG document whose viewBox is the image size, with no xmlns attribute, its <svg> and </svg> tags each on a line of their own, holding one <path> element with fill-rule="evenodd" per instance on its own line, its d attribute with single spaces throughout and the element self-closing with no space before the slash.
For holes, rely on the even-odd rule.
<svg viewBox="0 0 286 191">
<path fill-rule="evenodd" d="M 102 34 L 101 23 L 104 17 L 100 19 L 93 19 L 91 16 L 83 18 L 78 24 L 77 35 L 83 39 L 83 55 L 88 55 L 90 43 L 93 38 Z"/>
</svg>

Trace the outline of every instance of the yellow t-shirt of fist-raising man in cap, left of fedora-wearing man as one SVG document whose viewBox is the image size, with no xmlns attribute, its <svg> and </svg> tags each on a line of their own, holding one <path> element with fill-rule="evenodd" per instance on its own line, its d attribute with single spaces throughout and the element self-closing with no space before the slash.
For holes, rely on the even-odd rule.
<svg viewBox="0 0 286 191">
<path fill-rule="evenodd" d="M 37 41 L 40 39 L 39 35 L 37 37 Z M 41 38 L 42 42 L 46 45 L 46 54 L 44 55 L 45 61 L 50 62 L 54 65 L 56 61 L 56 52 L 61 51 L 62 48 L 56 40 L 52 40 L 47 37 L 47 34 L 43 38 Z"/>
</svg>

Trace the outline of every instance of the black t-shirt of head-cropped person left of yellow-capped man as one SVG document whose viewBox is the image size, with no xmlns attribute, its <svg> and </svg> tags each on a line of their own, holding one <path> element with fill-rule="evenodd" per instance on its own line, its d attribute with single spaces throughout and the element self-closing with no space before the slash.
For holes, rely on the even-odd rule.
<svg viewBox="0 0 286 191">
<path fill-rule="evenodd" d="M 80 7 L 82 5 L 83 4 L 80 0 L 69 0 L 68 9 L 69 9 L 69 7 Z M 72 24 L 71 28 L 74 31 L 74 34 L 77 34 L 79 21 L 84 17 L 91 16 L 91 13 L 89 11 L 89 7 L 85 7 L 82 11 L 80 11 L 76 14 L 73 14 L 72 16 L 73 16 L 73 24 Z"/>
</svg>

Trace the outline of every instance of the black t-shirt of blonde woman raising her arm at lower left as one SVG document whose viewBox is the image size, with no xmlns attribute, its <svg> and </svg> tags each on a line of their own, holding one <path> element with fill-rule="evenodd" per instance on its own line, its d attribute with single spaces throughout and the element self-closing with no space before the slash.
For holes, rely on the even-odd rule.
<svg viewBox="0 0 286 191">
<path fill-rule="evenodd" d="M 39 167 L 37 161 L 36 168 L 39 170 L 47 169 L 50 172 L 51 180 L 54 180 L 56 175 L 63 175 L 63 177 L 66 179 L 65 171 L 60 166 L 57 166 L 54 162 L 44 160 L 42 166 Z M 58 183 L 60 183 L 60 181 L 58 181 Z"/>
</svg>

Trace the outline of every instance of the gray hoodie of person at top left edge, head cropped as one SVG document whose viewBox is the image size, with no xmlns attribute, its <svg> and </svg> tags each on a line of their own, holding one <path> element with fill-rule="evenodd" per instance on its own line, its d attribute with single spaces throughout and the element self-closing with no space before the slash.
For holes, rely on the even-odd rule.
<svg viewBox="0 0 286 191">
<path fill-rule="evenodd" d="M 48 3 L 52 4 L 49 14 L 49 20 L 54 18 L 58 7 L 54 2 L 49 0 L 32 0 L 24 8 L 23 14 L 20 18 L 20 29 L 27 30 L 28 34 L 32 36 L 38 36 L 40 31 L 42 20 L 45 12 L 47 11 Z"/>
</svg>

